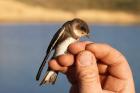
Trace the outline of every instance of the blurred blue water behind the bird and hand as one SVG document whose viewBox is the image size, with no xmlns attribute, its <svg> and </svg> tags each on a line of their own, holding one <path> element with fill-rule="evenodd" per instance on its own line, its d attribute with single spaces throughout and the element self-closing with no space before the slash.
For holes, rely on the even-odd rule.
<svg viewBox="0 0 140 93">
<path fill-rule="evenodd" d="M 35 75 L 50 39 L 61 24 L 0 24 L 0 93 L 68 93 L 70 84 L 59 75 L 53 86 L 40 87 Z M 90 41 L 108 43 L 121 51 L 140 92 L 140 26 L 90 25 Z"/>
</svg>

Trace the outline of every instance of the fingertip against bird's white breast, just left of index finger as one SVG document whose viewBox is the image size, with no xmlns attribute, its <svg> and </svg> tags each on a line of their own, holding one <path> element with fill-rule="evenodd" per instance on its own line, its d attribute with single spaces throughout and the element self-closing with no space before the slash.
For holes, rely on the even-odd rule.
<svg viewBox="0 0 140 93">
<path fill-rule="evenodd" d="M 73 43 L 69 45 L 68 51 L 75 55 L 79 53 L 80 51 L 85 50 L 85 46 L 90 43 L 91 43 L 90 41 Z"/>
</svg>

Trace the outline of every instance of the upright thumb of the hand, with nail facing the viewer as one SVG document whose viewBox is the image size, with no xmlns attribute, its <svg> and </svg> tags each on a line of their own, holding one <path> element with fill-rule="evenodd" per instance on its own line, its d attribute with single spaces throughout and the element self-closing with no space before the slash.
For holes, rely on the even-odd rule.
<svg viewBox="0 0 140 93">
<path fill-rule="evenodd" d="M 82 51 L 77 55 L 76 75 L 79 93 L 102 92 L 96 58 L 90 51 Z"/>
</svg>

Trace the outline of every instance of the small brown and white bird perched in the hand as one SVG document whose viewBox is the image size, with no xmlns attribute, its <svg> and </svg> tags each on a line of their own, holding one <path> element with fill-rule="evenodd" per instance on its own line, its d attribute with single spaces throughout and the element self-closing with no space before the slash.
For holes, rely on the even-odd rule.
<svg viewBox="0 0 140 93">
<path fill-rule="evenodd" d="M 67 47 L 80 39 L 80 37 L 89 36 L 89 28 L 85 21 L 74 18 L 73 20 L 67 21 L 62 25 L 62 27 L 53 36 L 48 49 L 46 51 L 46 56 L 38 70 L 36 75 L 36 80 L 38 81 L 41 72 L 48 60 L 50 53 L 55 50 L 52 59 L 59 55 L 67 53 Z M 49 67 L 47 69 L 46 75 L 42 79 L 40 85 L 42 84 L 54 84 L 57 78 L 58 72 L 51 70 Z"/>
</svg>

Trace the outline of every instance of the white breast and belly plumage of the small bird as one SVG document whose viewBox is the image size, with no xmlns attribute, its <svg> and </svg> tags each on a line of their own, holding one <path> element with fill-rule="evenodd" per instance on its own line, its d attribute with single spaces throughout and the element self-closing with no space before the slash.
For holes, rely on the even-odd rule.
<svg viewBox="0 0 140 93">
<path fill-rule="evenodd" d="M 59 55 L 65 54 L 67 52 L 67 48 L 71 43 L 76 42 L 77 40 L 72 38 L 72 37 L 68 37 L 65 40 L 63 40 L 62 42 L 60 42 L 56 49 L 55 49 L 55 55 L 54 57 L 57 57 Z"/>
</svg>

